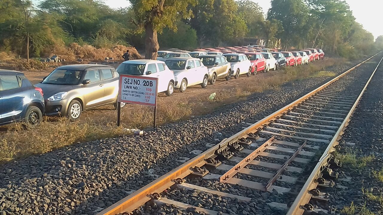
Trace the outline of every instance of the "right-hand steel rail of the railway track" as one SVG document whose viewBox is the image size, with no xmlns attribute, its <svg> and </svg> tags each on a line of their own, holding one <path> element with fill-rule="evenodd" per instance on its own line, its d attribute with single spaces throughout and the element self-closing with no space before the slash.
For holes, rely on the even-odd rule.
<svg viewBox="0 0 383 215">
<path fill-rule="evenodd" d="M 308 204 L 310 199 L 311 199 L 311 197 L 313 196 L 313 194 L 311 194 L 309 191 L 311 189 L 316 188 L 316 186 L 318 186 L 318 182 L 316 182 L 316 179 L 321 174 L 322 167 L 327 165 L 327 163 L 329 161 L 329 158 L 331 157 L 330 153 L 332 151 L 335 151 L 334 147 L 339 144 L 339 140 L 342 138 L 342 135 L 344 134 L 344 129 L 347 127 L 347 125 L 350 122 L 349 121 L 350 117 L 354 113 L 355 108 L 357 107 L 360 99 L 362 98 L 363 93 L 367 89 L 368 84 L 372 80 L 372 77 L 374 76 L 374 74 L 375 74 L 376 70 L 378 69 L 378 67 L 379 67 L 380 63 L 382 62 L 382 60 L 383 60 L 383 57 L 382 57 L 382 59 L 380 59 L 378 65 L 375 68 L 375 70 L 372 72 L 370 78 L 368 79 L 368 81 L 365 84 L 364 88 L 360 92 L 360 94 L 359 94 L 357 100 L 355 101 L 354 105 L 352 106 L 352 108 L 350 109 L 349 113 L 345 117 L 344 121 L 340 125 L 339 129 L 337 130 L 336 134 L 334 135 L 334 137 L 332 138 L 331 142 L 327 146 L 326 150 L 323 152 L 321 158 L 319 159 L 319 162 L 316 164 L 316 166 L 313 169 L 313 171 L 311 172 L 309 178 L 304 183 L 303 187 L 301 188 L 301 191 L 298 193 L 295 201 L 291 205 L 291 207 L 288 210 L 288 212 L 286 213 L 286 215 L 302 215 L 303 214 L 304 209 L 301 208 L 301 206 L 304 205 L 304 204 Z"/>
</svg>

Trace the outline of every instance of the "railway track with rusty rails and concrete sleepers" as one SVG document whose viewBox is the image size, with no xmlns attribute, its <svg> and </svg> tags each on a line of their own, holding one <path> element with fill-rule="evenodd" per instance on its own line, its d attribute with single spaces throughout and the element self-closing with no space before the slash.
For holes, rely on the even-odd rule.
<svg viewBox="0 0 383 215">
<path fill-rule="evenodd" d="M 363 85 L 349 74 L 376 55 L 98 215 L 330 213 L 311 203 L 329 198 L 321 187 L 336 186 L 332 168 L 341 163 L 332 152 L 383 58 Z"/>
</svg>

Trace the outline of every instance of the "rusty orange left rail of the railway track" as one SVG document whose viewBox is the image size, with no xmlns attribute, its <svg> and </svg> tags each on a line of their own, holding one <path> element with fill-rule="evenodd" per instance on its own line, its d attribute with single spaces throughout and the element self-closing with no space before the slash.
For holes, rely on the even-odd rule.
<svg viewBox="0 0 383 215">
<path fill-rule="evenodd" d="M 364 60 L 363 62 L 355 65 L 354 67 L 350 68 L 349 70 L 345 71 L 344 73 L 340 74 L 339 76 L 333 78 L 330 81 L 327 81 L 323 85 L 319 86 L 315 90 L 309 92 L 308 94 L 302 96 L 301 98 L 297 99 L 293 103 L 290 103 L 286 105 L 285 107 L 279 109 L 278 111 L 275 111 L 273 114 L 270 114 L 269 116 L 265 117 L 264 119 L 250 125 L 246 129 L 238 132 L 237 134 L 225 138 L 217 145 L 213 146 L 212 148 L 206 150 L 205 152 L 201 153 L 200 155 L 196 156 L 195 158 L 192 158 L 191 160 L 187 161 L 181 166 L 178 166 L 177 168 L 173 169 L 169 173 L 161 176 L 160 178 L 156 179 L 155 181 L 152 181 L 151 183 L 147 184 L 146 186 L 142 187 L 141 189 L 133 192 L 132 194 L 128 195 L 127 197 L 119 200 L 115 204 L 111 205 L 110 207 L 102 210 L 101 212 L 97 213 L 97 215 L 116 215 L 119 213 L 124 212 L 133 212 L 136 208 L 140 207 L 141 205 L 144 205 L 146 202 L 151 200 L 151 197 L 148 197 L 149 194 L 153 193 L 160 193 L 164 191 L 165 189 L 173 186 L 175 184 L 175 180 L 178 178 L 185 178 L 189 174 L 193 173 L 193 171 L 190 168 L 193 168 L 195 166 L 201 167 L 205 165 L 207 162 L 205 161 L 206 158 L 210 158 L 211 156 L 214 156 L 214 153 L 219 150 L 226 148 L 229 144 L 238 142 L 241 138 L 247 138 L 249 137 L 250 133 L 257 132 L 258 128 L 262 128 L 264 124 L 269 123 L 269 121 L 277 119 L 277 117 L 281 117 L 284 112 L 294 108 L 298 104 L 300 104 L 302 101 L 305 101 L 306 99 L 310 98 L 314 94 L 316 94 L 318 91 L 323 90 L 328 85 L 333 83 L 334 81 L 337 81 L 339 78 L 343 77 L 347 73 L 351 72 L 355 68 L 359 67 L 360 65 L 364 64 L 368 60 L 372 59 L 376 55 L 380 54 L 381 52 L 378 52 L 377 54 L 373 55 L 372 57 L 369 57 L 368 59 Z"/>
</svg>

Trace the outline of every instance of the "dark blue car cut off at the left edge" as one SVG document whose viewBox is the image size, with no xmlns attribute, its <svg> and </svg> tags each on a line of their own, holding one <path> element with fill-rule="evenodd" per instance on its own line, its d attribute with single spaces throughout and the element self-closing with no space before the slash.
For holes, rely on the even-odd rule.
<svg viewBox="0 0 383 215">
<path fill-rule="evenodd" d="M 33 86 L 24 73 L 0 70 L 0 125 L 23 121 L 36 126 L 44 111 L 41 88 Z"/>
</svg>

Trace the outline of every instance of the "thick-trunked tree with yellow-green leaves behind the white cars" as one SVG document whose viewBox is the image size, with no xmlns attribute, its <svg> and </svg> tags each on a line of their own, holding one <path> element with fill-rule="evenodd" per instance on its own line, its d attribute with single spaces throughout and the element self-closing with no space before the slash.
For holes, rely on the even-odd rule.
<svg viewBox="0 0 383 215">
<path fill-rule="evenodd" d="M 195 6 L 196 0 L 129 0 L 136 15 L 131 21 L 139 31 L 145 30 L 145 58 L 156 59 L 159 49 L 157 33 L 164 28 L 177 30 L 177 21 L 193 16 L 188 6 Z"/>
</svg>

